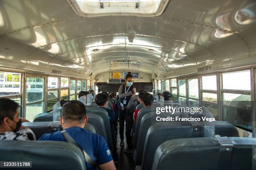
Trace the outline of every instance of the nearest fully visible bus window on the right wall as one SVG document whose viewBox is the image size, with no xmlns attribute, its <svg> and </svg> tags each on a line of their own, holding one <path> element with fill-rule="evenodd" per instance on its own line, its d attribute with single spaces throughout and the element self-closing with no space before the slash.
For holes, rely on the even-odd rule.
<svg viewBox="0 0 256 170">
<path fill-rule="evenodd" d="M 250 70 L 222 73 L 223 120 L 252 129 Z"/>
</svg>

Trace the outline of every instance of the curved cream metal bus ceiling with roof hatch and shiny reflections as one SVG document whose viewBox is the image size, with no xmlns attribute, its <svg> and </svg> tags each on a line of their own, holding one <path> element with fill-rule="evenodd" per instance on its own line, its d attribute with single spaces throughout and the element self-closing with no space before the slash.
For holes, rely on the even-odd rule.
<svg viewBox="0 0 256 170">
<path fill-rule="evenodd" d="M 161 79 L 255 65 L 255 9 L 253 0 L 1 0 L 0 67 Z"/>
</svg>

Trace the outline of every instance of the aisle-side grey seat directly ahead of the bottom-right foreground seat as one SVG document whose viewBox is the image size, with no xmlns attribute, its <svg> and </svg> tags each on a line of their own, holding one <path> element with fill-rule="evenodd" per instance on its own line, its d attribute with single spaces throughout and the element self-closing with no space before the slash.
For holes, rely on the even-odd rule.
<svg viewBox="0 0 256 170">
<path fill-rule="evenodd" d="M 164 114 L 161 117 L 168 116 L 169 114 Z M 192 138 L 192 133 L 193 127 L 190 122 L 156 122 L 152 125 L 151 113 L 144 115 L 139 130 L 136 153 L 134 152 L 134 154 L 136 154 L 136 156 L 134 155 L 133 157 L 135 158 L 134 163 L 141 165 L 145 154 L 147 154 L 146 160 L 151 159 L 152 162 L 154 151 L 161 143 L 171 139 Z M 150 157 L 149 155 L 151 155 L 151 158 L 148 158 Z M 151 167 L 151 165 L 147 166 L 147 168 L 149 167 Z"/>
</svg>

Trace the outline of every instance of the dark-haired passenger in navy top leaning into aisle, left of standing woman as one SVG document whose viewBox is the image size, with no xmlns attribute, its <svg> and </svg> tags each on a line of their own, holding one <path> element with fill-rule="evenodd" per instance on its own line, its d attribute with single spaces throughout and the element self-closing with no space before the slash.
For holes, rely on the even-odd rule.
<svg viewBox="0 0 256 170">
<path fill-rule="evenodd" d="M 115 135 L 115 112 L 114 110 L 108 109 L 108 96 L 102 92 L 100 94 L 97 94 L 95 97 L 95 103 L 98 105 L 98 107 L 102 107 L 108 112 L 108 117 L 110 121 L 110 128 L 111 128 L 111 135 L 114 143 L 114 150 L 113 150 L 113 158 L 114 161 L 118 162 L 118 155 L 116 153 L 116 135 Z"/>
</svg>

